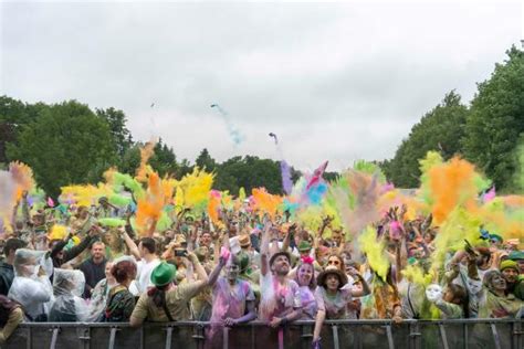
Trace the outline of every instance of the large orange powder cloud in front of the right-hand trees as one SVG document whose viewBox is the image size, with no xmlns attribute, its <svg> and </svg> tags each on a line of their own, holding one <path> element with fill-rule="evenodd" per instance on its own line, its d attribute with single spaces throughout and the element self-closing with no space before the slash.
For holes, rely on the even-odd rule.
<svg viewBox="0 0 524 349">
<path fill-rule="evenodd" d="M 473 165 L 460 158 L 433 166 L 428 171 L 433 223 L 441 224 L 457 207 L 474 208 L 478 192 L 488 182 Z"/>
</svg>

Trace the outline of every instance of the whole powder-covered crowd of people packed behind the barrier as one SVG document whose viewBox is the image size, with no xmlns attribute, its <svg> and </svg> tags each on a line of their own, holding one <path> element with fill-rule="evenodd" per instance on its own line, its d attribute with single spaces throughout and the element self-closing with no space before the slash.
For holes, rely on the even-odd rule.
<svg viewBox="0 0 524 349">
<path fill-rule="evenodd" d="M 101 197 L 36 209 L 24 192 L 2 235 L 0 340 L 22 321 L 209 321 L 212 342 L 220 328 L 252 320 L 313 320 L 319 343 L 326 319 L 523 317 L 520 239 L 478 226 L 478 239 L 446 251 L 440 265 L 431 213 L 410 219 L 400 205 L 361 233 L 384 246 L 377 260 L 333 216 L 312 231 L 286 210 L 249 205 L 220 209 L 220 224 L 175 210 L 166 230 L 139 234 L 133 207 Z M 115 218 L 120 224 L 101 224 Z"/>
</svg>

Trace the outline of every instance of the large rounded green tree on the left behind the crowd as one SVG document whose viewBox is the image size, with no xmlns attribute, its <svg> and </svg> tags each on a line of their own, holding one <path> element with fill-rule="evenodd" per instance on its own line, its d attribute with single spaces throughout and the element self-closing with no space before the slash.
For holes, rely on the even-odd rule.
<svg viewBox="0 0 524 349">
<path fill-rule="evenodd" d="M 116 160 L 107 123 L 75 101 L 41 108 L 21 130 L 18 144 L 8 144 L 7 154 L 28 163 L 51 197 L 63 186 L 101 180 Z"/>
</svg>

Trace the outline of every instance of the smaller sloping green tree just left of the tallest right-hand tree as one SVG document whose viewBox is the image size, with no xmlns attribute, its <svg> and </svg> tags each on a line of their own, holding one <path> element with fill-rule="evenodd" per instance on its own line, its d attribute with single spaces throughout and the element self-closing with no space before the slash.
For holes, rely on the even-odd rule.
<svg viewBox="0 0 524 349">
<path fill-rule="evenodd" d="M 468 108 L 461 103 L 460 95 L 454 91 L 448 93 L 439 105 L 411 128 L 395 157 L 382 162 L 388 180 L 400 188 L 418 187 L 419 160 L 429 150 L 439 151 L 444 159 L 462 152 L 460 140 L 464 135 L 467 113 Z"/>
</svg>

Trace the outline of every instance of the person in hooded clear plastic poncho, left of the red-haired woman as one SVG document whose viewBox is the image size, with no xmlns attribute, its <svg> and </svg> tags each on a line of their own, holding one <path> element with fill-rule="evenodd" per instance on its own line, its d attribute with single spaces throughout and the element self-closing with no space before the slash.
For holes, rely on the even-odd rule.
<svg viewBox="0 0 524 349">
<path fill-rule="evenodd" d="M 51 322 L 83 322 L 88 308 L 81 298 L 84 292 L 85 277 L 81 271 L 54 269 L 54 302 L 49 311 Z"/>
</svg>

